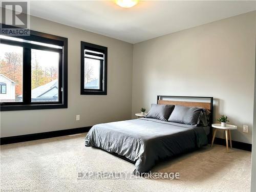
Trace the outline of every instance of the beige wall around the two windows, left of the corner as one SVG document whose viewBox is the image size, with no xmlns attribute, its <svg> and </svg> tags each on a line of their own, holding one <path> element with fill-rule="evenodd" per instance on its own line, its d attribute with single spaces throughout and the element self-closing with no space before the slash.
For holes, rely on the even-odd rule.
<svg viewBox="0 0 256 192">
<path fill-rule="evenodd" d="M 31 29 L 68 38 L 68 109 L 1 112 L 1 137 L 131 118 L 132 44 L 37 17 Z M 80 95 L 80 41 L 108 47 L 108 95 Z"/>
</svg>

